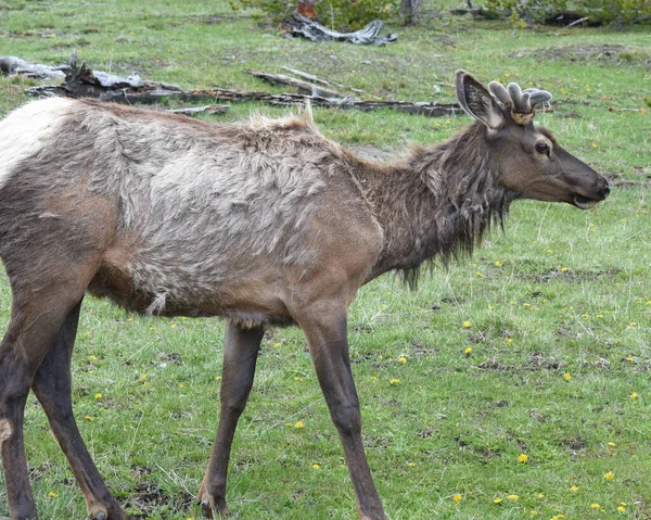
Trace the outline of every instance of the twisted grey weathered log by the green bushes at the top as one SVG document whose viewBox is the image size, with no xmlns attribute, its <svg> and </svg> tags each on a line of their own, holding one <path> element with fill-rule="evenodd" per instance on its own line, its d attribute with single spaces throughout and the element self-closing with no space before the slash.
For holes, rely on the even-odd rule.
<svg viewBox="0 0 651 520">
<path fill-rule="evenodd" d="M 347 41 L 349 43 L 367 46 L 385 46 L 398 39 L 398 35 L 378 36 L 384 25 L 380 20 L 374 20 L 355 33 L 339 33 L 337 30 L 329 29 L 307 16 L 293 12 L 283 22 L 283 25 L 292 35 L 306 38 L 310 41 Z"/>
</svg>

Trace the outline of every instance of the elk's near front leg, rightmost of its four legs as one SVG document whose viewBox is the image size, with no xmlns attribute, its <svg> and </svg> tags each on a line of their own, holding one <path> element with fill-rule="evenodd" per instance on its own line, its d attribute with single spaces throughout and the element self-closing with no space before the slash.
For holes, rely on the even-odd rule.
<svg viewBox="0 0 651 520">
<path fill-rule="evenodd" d="M 361 415 L 350 371 L 346 312 L 315 309 L 306 313 L 299 325 L 307 335 L 319 384 L 344 445 L 359 517 L 385 520 L 361 443 Z"/>
</svg>

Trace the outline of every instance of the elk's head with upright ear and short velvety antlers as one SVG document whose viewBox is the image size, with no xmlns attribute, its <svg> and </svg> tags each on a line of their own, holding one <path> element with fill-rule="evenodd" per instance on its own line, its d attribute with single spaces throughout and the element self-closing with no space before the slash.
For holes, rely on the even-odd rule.
<svg viewBox="0 0 651 520">
<path fill-rule="evenodd" d="M 588 210 L 610 193 L 608 180 L 561 148 L 553 134 L 534 126 L 546 90 L 524 91 L 512 83 L 488 89 L 465 71 L 457 72 L 461 107 L 485 126 L 484 137 L 499 185 L 515 198 L 567 202 Z"/>
</svg>

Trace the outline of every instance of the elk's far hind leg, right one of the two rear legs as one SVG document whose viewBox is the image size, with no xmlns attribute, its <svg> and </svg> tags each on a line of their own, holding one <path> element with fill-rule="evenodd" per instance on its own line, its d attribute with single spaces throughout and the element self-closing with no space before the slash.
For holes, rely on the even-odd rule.
<svg viewBox="0 0 651 520">
<path fill-rule="evenodd" d="M 119 507 L 104 484 L 73 416 L 71 362 L 79 321 L 79 302 L 59 329 L 54 344 L 41 363 L 31 389 L 38 397 L 56 442 L 66 455 L 84 493 L 88 516 L 92 520 L 125 520 Z"/>
</svg>

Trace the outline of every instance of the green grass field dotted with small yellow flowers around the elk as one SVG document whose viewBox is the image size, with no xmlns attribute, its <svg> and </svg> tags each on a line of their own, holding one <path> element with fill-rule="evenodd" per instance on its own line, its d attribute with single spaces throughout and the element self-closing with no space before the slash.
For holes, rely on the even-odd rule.
<svg viewBox="0 0 651 520">
<path fill-rule="evenodd" d="M 367 455 L 392 520 L 651 518 L 651 30 L 514 30 L 425 7 L 419 28 L 391 27 L 397 43 L 367 48 L 284 39 L 225 1 L 0 0 L 0 55 L 56 64 L 76 48 L 95 68 L 184 88 L 269 89 L 243 71 L 290 65 L 385 99 L 451 101 L 460 67 L 550 90 L 554 110 L 537 118 L 609 177 L 611 198 L 589 212 L 519 202 L 506 233 L 459 265 L 434 265 L 418 291 L 392 276 L 361 290 L 349 341 Z M 0 115 L 33 83 L 0 78 Z M 233 105 L 212 121 L 251 111 L 286 112 Z M 315 115 L 327 136 L 381 157 L 470 122 Z M 2 271 L 2 331 L 10 299 Z M 217 319 L 85 301 L 76 416 L 137 518 L 201 518 L 193 495 L 217 426 L 222 333 Z M 85 518 L 34 398 L 25 424 L 40 518 Z M 299 330 L 264 340 L 229 498 L 242 519 L 355 518 Z"/>
</svg>

